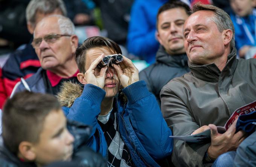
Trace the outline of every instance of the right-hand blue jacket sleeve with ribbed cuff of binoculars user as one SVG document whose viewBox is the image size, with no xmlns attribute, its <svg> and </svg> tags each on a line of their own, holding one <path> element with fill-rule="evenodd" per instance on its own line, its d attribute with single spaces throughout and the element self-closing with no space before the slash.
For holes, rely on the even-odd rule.
<svg viewBox="0 0 256 167">
<path fill-rule="evenodd" d="M 123 92 L 128 98 L 125 110 L 137 137 L 149 155 L 161 159 L 172 152 L 172 135 L 163 119 L 160 108 L 144 81 L 127 86 Z"/>
</svg>

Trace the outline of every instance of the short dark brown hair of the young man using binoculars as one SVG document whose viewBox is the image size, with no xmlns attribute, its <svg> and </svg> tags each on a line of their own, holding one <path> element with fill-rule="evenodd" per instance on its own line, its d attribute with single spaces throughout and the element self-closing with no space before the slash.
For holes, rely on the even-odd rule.
<svg viewBox="0 0 256 167">
<path fill-rule="evenodd" d="M 114 51 L 113 54 L 122 54 L 120 46 L 117 45 L 113 40 L 102 37 L 102 36 L 94 36 L 86 39 L 81 46 L 76 49 L 75 60 L 78 66 L 78 69 L 81 73 L 85 73 L 85 56 L 86 52 L 89 49 L 96 47 L 107 47 L 110 51 Z"/>
</svg>

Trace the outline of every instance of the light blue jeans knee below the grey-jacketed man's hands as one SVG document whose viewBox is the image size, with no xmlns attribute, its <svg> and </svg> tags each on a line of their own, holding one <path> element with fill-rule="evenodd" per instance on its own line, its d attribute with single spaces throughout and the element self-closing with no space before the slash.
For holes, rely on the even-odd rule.
<svg viewBox="0 0 256 167">
<path fill-rule="evenodd" d="M 219 155 L 214 161 L 212 167 L 233 167 L 233 161 L 235 159 L 236 152 L 230 151 Z"/>
</svg>

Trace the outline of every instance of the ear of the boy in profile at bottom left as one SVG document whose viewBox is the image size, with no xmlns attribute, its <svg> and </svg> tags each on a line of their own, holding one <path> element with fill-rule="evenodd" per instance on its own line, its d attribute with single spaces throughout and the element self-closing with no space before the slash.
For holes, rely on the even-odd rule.
<svg viewBox="0 0 256 167">
<path fill-rule="evenodd" d="M 33 149 L 33 146 L 30 142 L 21 142 L 19 145 L 18 157 L 26 159 L 28 161 L 34 161 L 37 155 Z"/>
</svg>

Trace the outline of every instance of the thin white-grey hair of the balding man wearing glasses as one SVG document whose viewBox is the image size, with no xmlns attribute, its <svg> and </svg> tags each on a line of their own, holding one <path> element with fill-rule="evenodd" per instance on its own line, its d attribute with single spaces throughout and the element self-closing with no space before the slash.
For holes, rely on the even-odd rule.
<svg viewBox="0 0 256 167">
<path fill-rule="evenodd" d="M 59 25 L 59 30 L 61 31 L 61 34 L 67 34 L 67 35 L 73 35 L 75 34 L 75 25 L 73 24 L 73 22 L 62 15 L 50 15 L 47 16 L 45 18 L 43 18 L 40 22 L 44 21 L 47 18 L 51 18 L 51 17 L 56 17 L 58 18 L 58 25 Z M 35 36 L 35 31 L 34 31 L 34 36 Z"/>
</svg>

